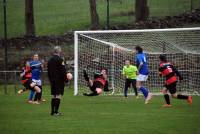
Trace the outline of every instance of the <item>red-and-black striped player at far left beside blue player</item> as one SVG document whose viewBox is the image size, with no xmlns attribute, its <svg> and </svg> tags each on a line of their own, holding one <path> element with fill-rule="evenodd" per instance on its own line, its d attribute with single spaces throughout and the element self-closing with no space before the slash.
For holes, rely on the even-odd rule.
<svg viewBox="0 0 200 134">
<path fill-rule="evenodd" d="M 26 61 L 24 63 L 24 67 L 23 67 L 23 71 L 20 74 L 20 77 L 22 78 L 22 84 L 24 85 L 24 89 L 19 90 L 18 94 L 22 94 L 23 92 L 25 92 L 27 89 L 29 90 L 33 90 L 36 92 L 36 97 L 39 96 L 41 89 L 36 85 L 35 82 L 32 81 L 32 74 L 31 74 L 31 68 L 30 68 L 30 64 L 28 61 Z"/>
</svg>

